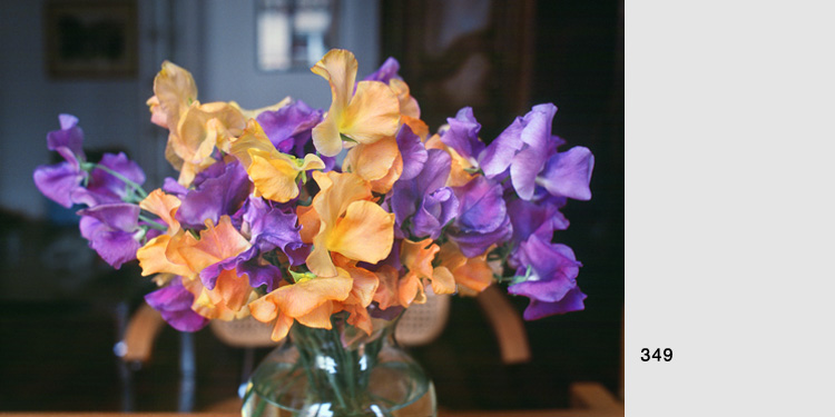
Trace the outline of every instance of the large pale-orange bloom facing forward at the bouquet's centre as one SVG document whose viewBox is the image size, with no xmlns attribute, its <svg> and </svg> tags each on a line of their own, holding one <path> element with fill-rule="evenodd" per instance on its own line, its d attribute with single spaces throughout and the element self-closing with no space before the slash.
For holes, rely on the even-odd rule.
<svg viewBox="0 0 835 417">
<path fill-rule="evenodd" d="M 385 259 L 394 240 L 394 215 L 371 201 L 371 185 L 351 172 L 314 171 L 320 187 L 310 208 L 299 207 L 303 241 L 313 242 L 307 267 L 318 277 L 333 277 L 331 252 L 376 264 Z M 306 229 L 306 230 L 305 230 Z"/>
</svg>

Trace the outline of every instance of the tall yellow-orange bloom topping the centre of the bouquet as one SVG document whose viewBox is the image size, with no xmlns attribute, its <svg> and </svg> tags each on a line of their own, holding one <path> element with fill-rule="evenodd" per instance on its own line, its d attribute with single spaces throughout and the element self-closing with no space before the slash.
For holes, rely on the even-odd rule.
<svg viewBox="0 0 835 417">
<path fill-rule="evenodd" d="M 325 120 L 313 128 L 313 145 L 324 156 L 340 153 L 343 136 L 358 143 L 373 143 L 397 131 L 397 96 L 380 81 L 355 85 L 356 69 L 354 54 L 342 49 L 331 50 L 311 68 L 327 80 L 333 97 Z"/>
</svg>

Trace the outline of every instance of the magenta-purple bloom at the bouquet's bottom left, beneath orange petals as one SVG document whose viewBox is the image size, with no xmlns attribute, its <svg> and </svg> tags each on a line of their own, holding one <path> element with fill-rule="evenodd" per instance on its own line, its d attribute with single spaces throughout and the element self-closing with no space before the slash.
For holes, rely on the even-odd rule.
<svg viewBox="0 0 835 417">
<path fill-rule="evenodd" d="M 167 286 L 146 295 L 145 301 L 179 331 L 197 331 L 209 322 L 209 319 L 191 310 L 194 295 L 183 286 L 181 277 L 176 277 Z"/>
</svg>

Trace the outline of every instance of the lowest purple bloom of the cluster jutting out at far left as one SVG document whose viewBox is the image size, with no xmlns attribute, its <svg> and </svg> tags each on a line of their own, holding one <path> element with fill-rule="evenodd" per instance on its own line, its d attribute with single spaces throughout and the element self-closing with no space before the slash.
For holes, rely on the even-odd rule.
<svg viewBox="0 0 835 417">
<path fill-rule="evenodd" d="M 139 206 L 127 202 L 99 205 L 79 210 L 79 228 L 92 249 L 110 266 L 119 269 L 136 259 L 141 246 L 139 237 Z"/>
</svg>

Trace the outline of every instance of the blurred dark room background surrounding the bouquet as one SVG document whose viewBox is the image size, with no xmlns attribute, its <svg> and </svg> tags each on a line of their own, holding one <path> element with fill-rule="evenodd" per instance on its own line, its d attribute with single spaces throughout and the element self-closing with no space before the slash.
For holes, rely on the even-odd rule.
<svg viewBox="0 0 835 417">
<path fill-rule="evenodd" d="M 249 359 L 208 329 L 157 337 L 137 366 L 114 354 L 153 284 L 136 265 L 112 270 L 79 236 L 72 210 L 43 198 L 33 169 L 56 162 L 46 133 L 58 115 L 85 130 L 90 160 L 125 151 L 146 188 L 174 171 L 166 131 L 145 101 L 164 60 L 188 69 L 200 101 L 244 108 L 286 96 L 327 108 L 310 71 L 331 48 L 353 51 L 358 77 L 387 57 L 434 131 L 465 106 L 489 142 L 531 106 L 559 108 L 553 132 L 596 157 L 592 200 L 570 201 L 557 240 L 583 262 L 586 310 L 525 322 L 531 359 L 502 361 L 471 298 L 453 298 L 432 344 L 411 348 L 446 409 L 561 408 L 568 386 L 622 393 L 623 4 L 560 0 L 10 0 L 0 3 L 0 411 L 183 409 L 181 353 L 210 409 L 235 396 Z M 527 299 L 510 298 L 522 311 Z M 268 353 L 257 349 L 256 363 Z"/>
</svg>

